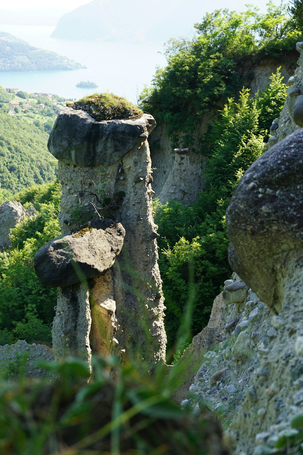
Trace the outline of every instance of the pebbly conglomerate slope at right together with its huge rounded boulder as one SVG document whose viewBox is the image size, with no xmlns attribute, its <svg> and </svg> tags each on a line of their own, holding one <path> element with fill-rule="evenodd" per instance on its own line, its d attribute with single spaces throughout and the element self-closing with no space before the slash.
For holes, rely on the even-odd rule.
<svg viewBox="0 0 303 455">
<path fill-rule="evenodd" d="M 276 453 L 281 438 L 290 448 L 291 421 L 302 415 L 302 144 L 302 130 L 279 142 L 234 192 L 226 222 L 241 278 L 233 273 L 225 282 L 222 341 L 209 346 L 183 402 L 195 409 L 204 400 L 227 426 L 236 455 Z"/>
</svg>

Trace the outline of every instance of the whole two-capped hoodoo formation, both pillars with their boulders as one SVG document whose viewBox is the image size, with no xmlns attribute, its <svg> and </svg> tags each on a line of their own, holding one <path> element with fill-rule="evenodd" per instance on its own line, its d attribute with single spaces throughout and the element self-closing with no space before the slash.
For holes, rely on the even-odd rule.
<svg viewBox="0 0 303 455">
<path fill-rule="evenodd" d="M 92 349 L 121 358 L 135 356 L 149 364 L 165 359 L 165 307 L 147 142 L 154 126 L 154 118 L 148 114 L 129 120 L 95 121 L 84 110 L 72 107 L 63 109 L 55 122 L 49 149 L 59 159 L 59 221 L 62 233 L 72 234 L 42 247 L 42 259 L 40 252 L 36 263 L 51 263 L 53 283 L 60 286 L 53 325 L 57 357 L 72 352 L 89 361 Z M 108 248 L 100 250 L 96 222 L 89 220 L 103 217 L 107 220 L 100 223 L 110 226 L 101 229 Z M 83 239 L 77 238 L 81 228 L 86 229 Z M 114 262 L 124 230 L 123 247 Z M 79 258 L 74 254 L 74 245 L 78 248 L 84 240 L 85 265 L 80 264 L 82 253 Z M 64 243 L 69 243 L 69 254 L 62 253 Z M 54 256 L 55 249 L 59 259 Z M 78 267 L 87 281 L 76 283 L 73 278 L 65 282 L 62 263 L 69 271 L 73 263 L 74 278 Z"/>
</svg>

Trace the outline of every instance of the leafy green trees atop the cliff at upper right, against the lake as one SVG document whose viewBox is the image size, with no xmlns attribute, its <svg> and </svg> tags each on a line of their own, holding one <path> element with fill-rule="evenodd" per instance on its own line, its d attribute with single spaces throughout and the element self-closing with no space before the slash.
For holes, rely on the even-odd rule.
<svg viewBox="0 0 303 455">
<path fill-rule="evenodd" d="M 144 111 L 166 124 L 173 146 L 188 147 L 202 115 L 220 109 L 248 85 L 249 71 L 241 71 L 244 61 L 253 66 L 258 56 L 282 55 L 298 41 L 301 35 L 291 27 L 287 6 L 273 1 L 267 6 L 265 14 L 251 5 L 240 13 L 206 13 L 195 24 L 198 36 L 169 41 L 167 66 L 156 69 L 152 87 L 144 88 L 139 101 Z"/>
</svg>

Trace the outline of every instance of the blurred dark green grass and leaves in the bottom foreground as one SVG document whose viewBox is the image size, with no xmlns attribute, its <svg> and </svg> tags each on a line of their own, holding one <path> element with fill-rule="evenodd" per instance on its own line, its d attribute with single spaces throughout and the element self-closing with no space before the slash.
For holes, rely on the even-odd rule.
<svg viewBox="0 0 303 455">
<path fill-rule="evenodd" d="M 178 366 L 167 374 L 159 365 L 151 376 L 142 363 L 121 366 L 114 358 L 96 358 L 89 382 L 87 364 L 77 359 L 43 368 L 51 382 L 1 383 L 1 455 L 207 455 L 209 436 L 219 435 L 208 416 L 172 401 L 183 373 Z"/>
</svg>

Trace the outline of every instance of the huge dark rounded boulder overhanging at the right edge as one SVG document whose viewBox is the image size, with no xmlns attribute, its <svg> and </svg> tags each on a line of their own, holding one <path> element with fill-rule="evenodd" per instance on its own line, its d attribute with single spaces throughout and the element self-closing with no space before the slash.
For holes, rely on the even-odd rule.
<svg viewBox="0 0 303 455">
<path fill-rule="evenodd" d="M 303 251 L 303 130 L 263 153 L 245 172 L 226 212 L 231 267 L 268 307 L 277 255 Z"/>
</svg>

